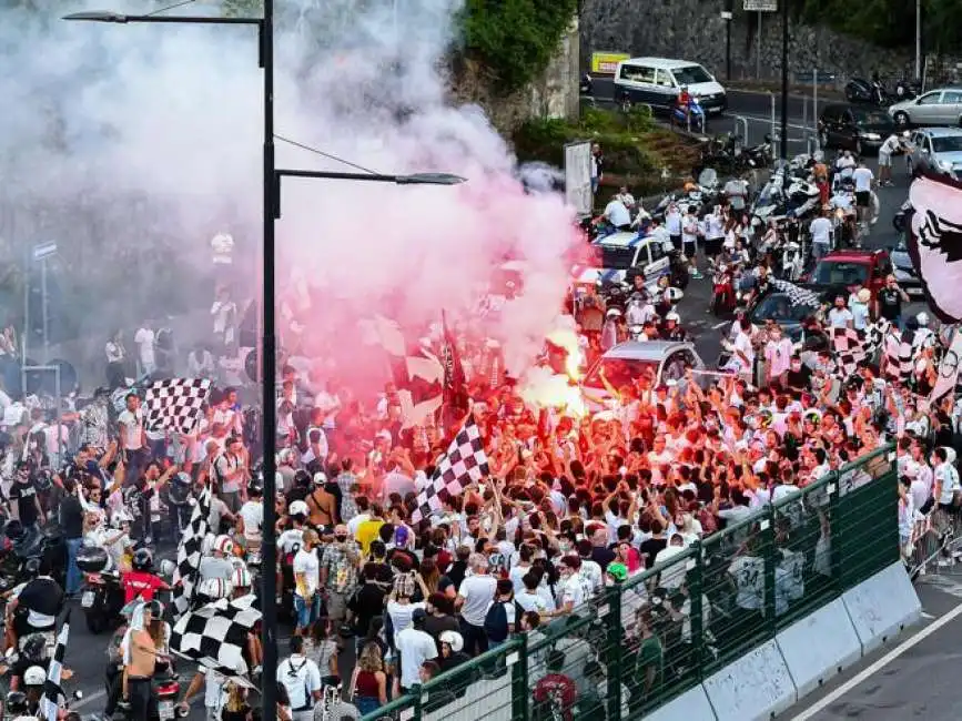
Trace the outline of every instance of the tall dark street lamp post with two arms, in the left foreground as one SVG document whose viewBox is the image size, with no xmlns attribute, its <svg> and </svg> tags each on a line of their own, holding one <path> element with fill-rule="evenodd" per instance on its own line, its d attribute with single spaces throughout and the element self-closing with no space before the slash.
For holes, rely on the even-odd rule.
<svg viewBox="0 0 962 721">
<path fill-rule="evenodd" d="M 263 18 L 226 18 L 219 16 L 128 16 L 119 12 L 78 12 L 63 18 L 88 22 L 109 23 L 171 23 L 211 26 L 256 26 L 260 40 L 260 67 L 264 70 L 264 144 L 263 144 L 263 301 L 261 338 L 261 403 L 263 404 L 264 447 L 264 527 L 261 555 L 261 641 L 264 651 L 262 662 L 262 714 L 264 719 L 277 718 L 277 693 L 274 679 L 277 676 L 277 538 L 274 498 L 276 494 L 276 354 L 275 290 L 274 290 L 274 222 L 281 216 L 281 177 L 313 177 L 328 180 L 389 182 L 398 185 L 455 185 L 465 179 L 446 173 L 421 173 L 414 175 L 378 175 L 362 173 L 332 173 L 322 171 L 279 170 L 274 163 L 274 0 L 264 0 Z"/>
</svg>

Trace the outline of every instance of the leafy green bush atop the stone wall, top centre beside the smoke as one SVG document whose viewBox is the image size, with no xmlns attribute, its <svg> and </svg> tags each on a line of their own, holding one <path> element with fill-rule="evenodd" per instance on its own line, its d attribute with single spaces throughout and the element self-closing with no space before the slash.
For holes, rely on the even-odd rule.
<svg viewBox="0 0 962 721">
<path fill-rule="evenodd" d="M 464 51 L 507 94 L 534 80 L 558 49 L 578 0 L 467 0 L 460 13 Z"/>
</svg>

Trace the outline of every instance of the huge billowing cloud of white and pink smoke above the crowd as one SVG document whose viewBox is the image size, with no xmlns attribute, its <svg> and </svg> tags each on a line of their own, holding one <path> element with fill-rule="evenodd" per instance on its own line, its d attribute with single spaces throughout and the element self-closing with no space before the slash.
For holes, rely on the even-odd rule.
<svg viewBox="0 0 962 721">
<path fill-rule="evenodd" d="M 99 288 L 95 304 L 71 309 L 94 335 L 135 324 L 136 313 L 164 313 L 168 303 L 178 306 L 171 313 L 205 316 L 209 241 L 219 231 L 236 242 L 235 294 L 255 296 L 263 118 L 255 29 L 58 19 L 84 9 L 94 7 L 45 0 L 0 11 L 13 69 L 0 77 L 0 167 L 16 179 L 0 199 L 0 235 L 19 248 L 59 233 L 73 272 L 103 278 L 115 265 L 138 287 L 162 288 L 156 297 Z M 459 9 L 458 0 L 297 0 L 277 9 L 280 135 L 377 172 L 468 179 L 456 187 L 284 181 L 279 291 L 292 287 L 293 268 L 320 288 L 302 317 L 315 353 L 346 362 L 360 348 L 357 318 L 373 313 L 416 328 L 442 308 L 463 317 L 509 257 L 529 271 L 525 296 L 496 332 L 507 355 L 526 356 L 557 315 L 563 257 L 575 242 L 570 214 L 558 196 L 523 193 L 515 159 L 480 109 L 448 104 L 444 59 Z M 205 3 L 173 12 L 217 11 Z M 282 142 L 277 164 L 353 170 Z M 548 169 L 536 175 L 553 177 Z M 203 334 L 207 324 L 192 329 Z"/>
</svg>

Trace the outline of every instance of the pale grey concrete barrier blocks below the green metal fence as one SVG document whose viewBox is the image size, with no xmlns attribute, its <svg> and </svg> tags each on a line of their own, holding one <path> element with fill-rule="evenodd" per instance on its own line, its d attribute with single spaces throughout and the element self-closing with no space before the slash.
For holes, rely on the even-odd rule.
<svg viewBox="0 0 962 721">
<path fill-rule="evenodd" d="M 767 721 L 921 616 L 904 567 L 892 563 L 645 719 Z"/>
</svg>

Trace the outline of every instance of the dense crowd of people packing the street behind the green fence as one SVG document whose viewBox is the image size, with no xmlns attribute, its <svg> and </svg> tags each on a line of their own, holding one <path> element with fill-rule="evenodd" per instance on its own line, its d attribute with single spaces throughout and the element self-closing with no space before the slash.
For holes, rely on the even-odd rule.
<svg viewBox="0 0 962 721">
<path fill-rule="evenodd" d="M 723 225 L 741 227 L 743 202 L 732 190 L 720 205 Z M 674 230 L 672 219 L 672 242 Z M 733 240 L 721 252 L 741 253 L 751 293 L 764 294 L 770 268 L 759 252 L 763 238 Z M 891 305 L 870 304 L 865 288 L 853 286 L 831 307 L 813 308 L 804 321 L 808 336 L 824 336 L 830 327 L 863 328 L 875 315 L 900 322 L 902 298 L 895 285 L 890 290 Z M 636 291 L 641 309 L 634 312 L 645 316 L 638 324 L 646 337 L 683 339 L 668 288 L 648 294 L 639 283 Z M 578 357 L 558 365 L 551 356 L 571 349 L 549 348 L 538 363 L 579 376 L 628 337 L 637 318 L 611 314 L 602 294 L 588 295 L 594 302 L 573 298 L 568 306 Z M 237 315 L 229 295 L 219 295 L 213 348 L 236 346 Z M 160 331 L 144 325 L 134 335 L 143 373 L 163 373 L 175 363 L 164 355 L 173 345 Z M 479 429 L 489 475 L 459 495 L 442 489 L 439 508 L 424 517 L 421 495 L 433 485 L 437 459 L 464 415 L 448 425 L 412 425 L 394 383 L 363 403 L 286 358 L 276 400 L 277 495 L 264 498 L 256 417 L 245 413 L 237 388 L 217 375 L 215 358 L 227 354 L 191 352 L 191 373 L 217 375 L 217 387 L 191 434 L 156 430 L 145 427 L 138 393 L 120 380 L 129 358 L 117 334 L 105 347 L 113 387 L 61 409 L 63 428 L 37 398 L 0 395 L 3 501 L 11 522 L 19 524 L 8 536 L 57 521 L 67 546 L 67 599 L 83 587 L 79 555 L 95 546 L 135 588 L 125 600 L 149 601 L 111 644 L 109 673 L 107 711 L 128 702 L 140 720 L 148 718 L 149 693 L 124 679 L 153 676 L 143 653 L 164 662 L 175 656 L 159 620 L 170 618 L 170 609 L 154 599 L 165 583 L 151 580 L 156 569 L 146 549 L 172 547 L 191 512 L 185 499 L 210 489 L 210 541 L 198 592 L 204 599 L 244 598 L 255 592 L 263 504 L 275 504 L 282 615 L 292 627 L 276 678 L 280 713 L 295 721 L 358 718 L 513 634 L 526 633 L 536 643 L 548 634 L 547 624 L 578 619 L 578 610 L 607 586 L 629 583 L 696 540 L 750 521 L 893 441 L 902 488 L 899 524 L 908 546 L 920 514 L 933 507 L 954 512 L 962 498 L 954 454 L 945 450 L 956 437 L 960 408 L 951 395 L 928 402 L 940 347 L 929 333 L 932 342 L 920 346 L 907 383 L 883 380 L 885 368 L 874 359 L 839 378 L 831 347 L 798 346 L 777 324 L 757 327 L 739 311 L 726 334 L 725 373 L 686 369 L 670 382 L 651 373 L 604 377 L 607 400 L 600 409 L 567 396 L 536 403 L 523 379 L 493 373 L 490 344 L 458 343 L 470 397 L 463 410 Z M 444 342 L 433 341 L 438 357 Z M 737 591 L 736 612 L 753 619 L 761 603 L 758 575 L 738 572 L 750 563 L 750 551 L 741 556 L 727 572 Z M 826 572 L 817 551 L 793 562 L 802 576 Z M 55 572 L 44 568 L 41 575 Z M 641 708 L 670 683 L 666 629 L 685 624 L 690 599 L 683 573 L 669 576 L 639 587 L 635 602 L 622 608 L 634 669 L 622 674 L 630 679 L 622 689 L 626 709 Z M 798 598 L 797 589 L 779 593 L 784 603 Z M 28 634 L 31 626 L 23 620 L 17 629 Z M 590 633 L 573 644 L 545 646 L 529 669 L 538 718 L 570 718 L 576 708 L 604 712 L 607 669 L 597 651 Z M 256 672 L 261 650 L 253 636 L 245 653 Z M 497 679 L 505 669 L 493 663 L 477 673 Z M 243 684 L 213 672 L 195 677 L 179 702 L 190 702 L 204 686 L 209 719 L 254 714 L 257 704 Z M 332 690 L 340 700 L 332 700 Z M 432 693 L 427 710 L 466 692 L 466 684 L 452 684 Z"/>
</svg>

